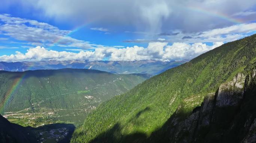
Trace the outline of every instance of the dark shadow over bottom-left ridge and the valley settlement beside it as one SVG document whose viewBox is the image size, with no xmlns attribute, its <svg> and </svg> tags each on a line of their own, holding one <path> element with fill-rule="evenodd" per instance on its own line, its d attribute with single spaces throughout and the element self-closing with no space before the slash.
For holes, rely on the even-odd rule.
<svg viewBox="0 0 256 143">
<path fill-rule="evenodd" d="M 10 123 L 0 115 L 1 143 L 69 143 L 74 132 L 73 124 L 49 124 L 41 127 L 23 127 Z"/>
</svg>

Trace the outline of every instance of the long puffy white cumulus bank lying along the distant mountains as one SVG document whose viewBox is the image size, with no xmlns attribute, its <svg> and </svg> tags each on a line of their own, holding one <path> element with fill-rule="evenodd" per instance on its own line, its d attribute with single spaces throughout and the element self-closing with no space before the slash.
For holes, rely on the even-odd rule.
<svg viewBox="0 0 256 143">
<path fill-rule="evenodd" d="M 215 42 L 212 46 L 203 43 L 173 43 L 151 42 L 144 47 L 126 47 L 126 48 L 97 48 L 94 51 L 80 51 L 77 49 L 67 49 L 79 51 L 72 53 L 67 51 L 47 50 L 37 46 L 30 48 L 26 53 L 16 51 L 16 54 L 2 55 L 0 61 L 41 61 L 41 60 L 89 60 L 97 61 L 108 59 L 111 61 L 135 61 L 135 60 L 180 60 L 191 59 L 213 48 L 222 45 L 223 42 Z"/>
</svg>

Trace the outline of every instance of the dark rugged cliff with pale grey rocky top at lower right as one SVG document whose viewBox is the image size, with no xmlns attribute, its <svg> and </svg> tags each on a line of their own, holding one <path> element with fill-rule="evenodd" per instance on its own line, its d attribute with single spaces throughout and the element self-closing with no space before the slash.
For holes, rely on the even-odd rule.
<svg viewBox="0 0 256 143">
<path fill-rule="evenodd" d="M 221 84 L 189 116 L 182 117 L 177 110 L 147 142 L 255 143 L 255 74 L 256 70 L 247 76 L 237 74 L 231 82 Z"/>
</svg>

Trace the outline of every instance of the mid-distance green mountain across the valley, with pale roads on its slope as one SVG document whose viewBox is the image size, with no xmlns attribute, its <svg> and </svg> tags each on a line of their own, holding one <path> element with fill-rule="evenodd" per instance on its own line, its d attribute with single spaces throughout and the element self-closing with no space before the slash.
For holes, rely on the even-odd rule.
<svg viewBox="0 0 256 143">
<path fill-rule="evenodd" d="M 148 78 L 88 69 L 0 71 L 0 113 L 23 126 L 78 125 L 98 104 Z"/>
</svg>

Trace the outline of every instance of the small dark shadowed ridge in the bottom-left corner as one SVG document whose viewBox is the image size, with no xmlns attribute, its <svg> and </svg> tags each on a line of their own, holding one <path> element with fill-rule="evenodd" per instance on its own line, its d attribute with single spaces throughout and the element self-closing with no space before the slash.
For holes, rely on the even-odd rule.
<svg viewBox="0 0 256 143">
<path fill-rule="evenodd" d="M 0 142 L 1 143 L 35 143 L 36 136 L 21 125 L 12 124 L 0 115 Z"/>
</svg>

